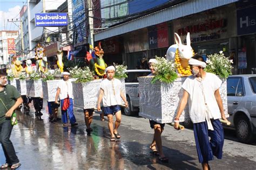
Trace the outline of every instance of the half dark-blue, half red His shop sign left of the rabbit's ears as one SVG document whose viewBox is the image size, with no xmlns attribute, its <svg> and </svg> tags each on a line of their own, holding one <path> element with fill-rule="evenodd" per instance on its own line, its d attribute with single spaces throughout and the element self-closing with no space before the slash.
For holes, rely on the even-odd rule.
<svg viewBox="0 0 256 170">
<path fill-rule="evenodd" d="M 169 46 L 168 29 L 160 29 L 149 32 L 149 49 Z"/>
</svg>

